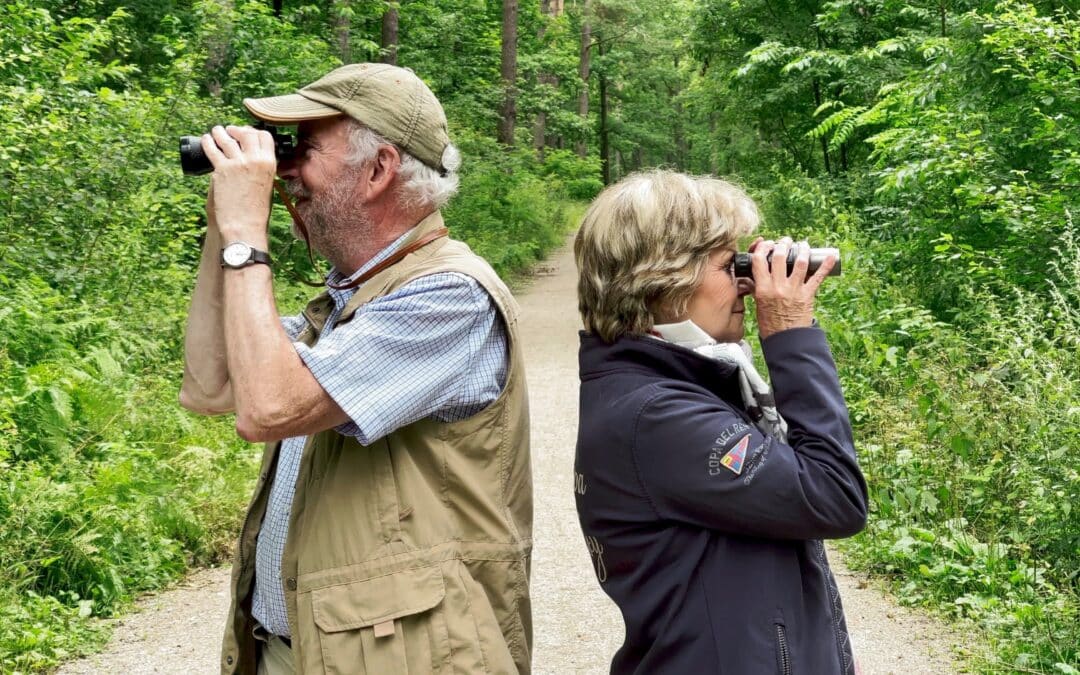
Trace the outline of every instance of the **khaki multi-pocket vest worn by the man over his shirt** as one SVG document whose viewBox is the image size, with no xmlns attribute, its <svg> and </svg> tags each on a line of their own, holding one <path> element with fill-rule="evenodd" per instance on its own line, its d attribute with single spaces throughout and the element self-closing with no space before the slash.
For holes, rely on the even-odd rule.
<svg viewBox="0 0 1080 675">
<path fill-rule="evenodd" d="M 410 239 L 438 227 L 435 213 Z M 369 446 L 333 430 L 308 438 L 282 559 L 298 673 L 530 671 L 532 477 L 516 302 L 467 245 L 442 238 L 364 283 L 336 325 L 435 272 L 468 274 L 490 294 L 509 336 L 505 387 L 469 419 L 423 419 Z M 308 305 L 302 341 L 315 342 L 332 309 L 326 294 Z M 255 544 L 280 446 L 267 445 L 241 531 L 222 674 L 256 670 Z"/>
</svg>

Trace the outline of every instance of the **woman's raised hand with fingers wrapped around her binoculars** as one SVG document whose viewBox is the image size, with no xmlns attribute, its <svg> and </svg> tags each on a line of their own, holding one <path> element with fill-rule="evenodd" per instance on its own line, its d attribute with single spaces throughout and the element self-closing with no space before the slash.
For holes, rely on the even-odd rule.
<svg viewBox="0 0 1080 675">
<path fill-rule="evenodd" d="M 786 260 L 793 246 L 798 255 L 792 273 L 788 274 Z M 818 287 L 836 265 L 836 258 L 828 256 L 818 271 L 807 278 L 810 245 L 806 242 L 793 244 L 788 237 L 773 242 L 759 237 L 751 244 L 750 253 L 757 328 L 761 339 L 788 328 L 810 326 L 813 323 L 813 300 Z M 768 261 L 770 253 L 773 261 L 771 269 Z"/>
</svg>

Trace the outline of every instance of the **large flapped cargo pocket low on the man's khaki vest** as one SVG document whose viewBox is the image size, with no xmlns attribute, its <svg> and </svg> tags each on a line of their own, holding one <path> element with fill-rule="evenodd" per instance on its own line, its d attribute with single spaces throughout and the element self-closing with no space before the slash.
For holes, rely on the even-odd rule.
<svg viewBox="0 0 1080 675">
<path fill-rule="evenodd" d="M 450 656 L 445 595 L 437 566 L 312 591 L 324 672 L 441 672 Z"/>
</svg>

